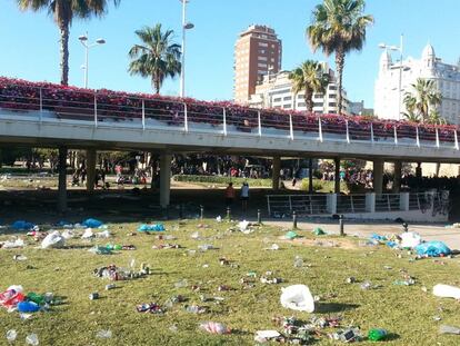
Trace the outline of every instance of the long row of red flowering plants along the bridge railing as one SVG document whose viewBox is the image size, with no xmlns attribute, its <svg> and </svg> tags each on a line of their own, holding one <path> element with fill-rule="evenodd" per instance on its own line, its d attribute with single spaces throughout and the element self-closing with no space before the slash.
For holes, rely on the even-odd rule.
<svg viewBox="0 0 460 346">
<path fill-rule="evenodd" d="M 417 138 L 453 142 L 454 126 L 418 125 L 407 121 L 380 120 L 369 117 L 341 115 L 314 115 L 284 109 L 253 109 L 231 101 L 199 101 L 192 98 L 176 98 L 159 95 L 129 93 L 107 89 L 90 90 L 64 87 L 50 82 L 30 82 L 0 77 L 0 107 L 17 110 L 46 110 L 60 118 L 91 120 L 97 111 L 98 120 L 127 121 L 144 118 L 168 126 L 183 126 L 186 115 L 189 122 L 222 127 L 228 130 L 252 131 L 259 127 L 296 132 L 319 134 L 319 123 L 324 134 L 344 136 L 347 122 L 352 140 L 370 140 L 371 128 L 376 140 Z"/>
</svg>

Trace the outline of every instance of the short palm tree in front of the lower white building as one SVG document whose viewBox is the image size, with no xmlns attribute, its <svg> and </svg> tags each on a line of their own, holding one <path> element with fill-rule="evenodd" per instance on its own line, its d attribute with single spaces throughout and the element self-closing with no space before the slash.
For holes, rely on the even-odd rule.
<svg viewBox="0 0 460 346">
<path fill-rule="evenodd" d="M 294 100 L 297 95 L 303 90 L 307 110 L 312 112 L 313 92 L 324 92 L 329 83 L 329 77 L 323 72 L 321 63 L 313 60 L 306 60 L 289 73 L 289 79 L 292 81 Z"/>
</svg>

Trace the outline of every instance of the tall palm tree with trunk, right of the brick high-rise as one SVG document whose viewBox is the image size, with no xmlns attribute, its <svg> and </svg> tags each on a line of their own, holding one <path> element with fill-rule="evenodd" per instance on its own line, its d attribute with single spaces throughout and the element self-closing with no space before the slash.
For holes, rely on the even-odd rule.
<svg viewBox="0 0 460 346">
<path fill-rule="evenodd" d="M 336 53 L 337 103 L 342 111 L 342 77 L 344 57 L 352 50 L 361 50 L 366 41 L 366 30 L 373 23 L 373 17 L 363 14 L 364 0 L 323 0 L 313 10 L 312 23 L 307 28 L 307 37 L 313 51 L 322 49 L 326 56 Z"/>
</svg>

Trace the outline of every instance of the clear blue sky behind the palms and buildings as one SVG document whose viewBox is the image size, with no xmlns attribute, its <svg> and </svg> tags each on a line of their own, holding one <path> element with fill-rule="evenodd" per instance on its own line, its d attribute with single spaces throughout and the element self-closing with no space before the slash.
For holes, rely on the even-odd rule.
<svg viewBox="0 0 460 346">
<path fill-rule="evenodd" d="M 313 55 L 304 29 L 311 10 L 320 0 L 191 0 L 188 19 L 196 28 L 187 39 L 187 93 L 198 99 L 231 99 L 233 45 L 238 33 L 251 23 L 271 26 L 282 39 L 283 69 L 304 59 L 326 60 Z M 437 56 L 457 62 L 460 57 L 460 1 L 458 0 L 368 0 L 376 18 L 362 52 L 347 57 L 344 87 L 351 100 L 373 105 L 373 82 L 381 51 L 379 42 L 399 43 L 406 37 L 406 56 L 418 58 L 427 42 Z M 76 20 L 70 38 L 70 83 L 82 86 L 83 48 L 78 36 L 89 31 L 107 45 L 90 52 L 91 88 L 150 92 L 149 80 L 127 72 L 128 50 L 136 42 L 134 30 L 157 22 L 176 31 L 180 43 L 179 0 L 122 0 L 103 19 Z M 59 82 L 59 32 L 46 11 L 20 12 L 16 0 L 0 0 L 0 75 L 28 80 Z M 394 57 L 396 58 L 396 57 Z M 333 62 L 333 57 L 329 58 Z M 332 63 L 333 67 L 333 63 Z M 168 80 L 162 93 L 177 95 L 179 80 Z"/>
</svg>

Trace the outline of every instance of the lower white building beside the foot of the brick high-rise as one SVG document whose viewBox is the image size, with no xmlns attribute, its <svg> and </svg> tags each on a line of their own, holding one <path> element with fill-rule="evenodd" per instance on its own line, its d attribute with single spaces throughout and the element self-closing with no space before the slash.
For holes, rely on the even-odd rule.
<svg viewBox="0 0 460 346">
<path fill-rule="evenodd" d="M 329 70 L 329 83 L 326 93 L 313 93 L 313 112 L 337 113 L 337 85 L 333 71 Z M 267 75 L 263 80 L 256 86 L 256 92 L 249 99 L 250 107 L 257 108 L 282 108 L 307 110 L 304 92 L 300 91 L 294 100 L 292 92 L 292 81 L 289 79 L 290 71 L 280 71 L 274 75 Z M 342 90 L 343 112 L 348 112 L 347 93 Z"/>
</svg>

